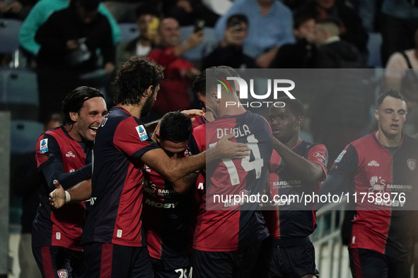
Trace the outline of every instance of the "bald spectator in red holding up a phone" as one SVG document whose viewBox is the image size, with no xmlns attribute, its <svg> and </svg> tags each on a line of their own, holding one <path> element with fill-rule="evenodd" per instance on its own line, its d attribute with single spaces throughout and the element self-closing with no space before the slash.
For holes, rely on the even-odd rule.
<svg viewBox="0 0 418 278">
<path fill-rule="evenodd" d="M 153 49 L 148 57 L 164 66 L 164 76 L 167 80 L 160 84 L 158 98 L 153 105 L 153 116 L 158 119 L 169 111 L 186 110 L 190 108 L 190 95 L 187 91 L 190 80 L 193 80 L 200 71 L 189 61 L 180 58 L 187 50 L 202 43 L 203 31 L 194 32 L 180 44 L 180 29 L 178 21 L 166 18 L 161 21 L 158 30 L 161 45 Z"/>
</svg>

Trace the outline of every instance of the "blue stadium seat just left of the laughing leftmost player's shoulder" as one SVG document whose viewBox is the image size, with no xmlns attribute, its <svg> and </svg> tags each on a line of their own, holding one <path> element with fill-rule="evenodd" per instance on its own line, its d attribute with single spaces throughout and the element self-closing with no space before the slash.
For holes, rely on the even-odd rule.
<svg viewBox="0 0 418 278">
<path fill-rule="evenodd" d="M 34 152 L 37 138 L 43 133 L 43 125 L 37 121 L 11 121 L 11 154 Z"/>
</svg>

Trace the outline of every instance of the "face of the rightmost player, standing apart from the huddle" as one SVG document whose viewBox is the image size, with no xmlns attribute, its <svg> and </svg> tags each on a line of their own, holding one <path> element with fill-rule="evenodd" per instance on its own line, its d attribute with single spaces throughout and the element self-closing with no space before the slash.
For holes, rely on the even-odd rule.
<svg viewBox="0 0 418 278">
<path fill-rule="evenodd" d="M 402 134 L 402 128 L 407 119 L 407 104 L 395 97 L 385 97 L 375 111 L 379 123 L 379 131 L 386 138 L 394 139 Z"/>
</svg>

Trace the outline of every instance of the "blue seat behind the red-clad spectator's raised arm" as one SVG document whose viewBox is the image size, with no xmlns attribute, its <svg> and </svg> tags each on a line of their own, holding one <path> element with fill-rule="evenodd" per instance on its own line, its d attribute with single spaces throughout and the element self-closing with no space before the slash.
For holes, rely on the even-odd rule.
<svg viewBox="0 0 418 278">
<path fill-rule="evenodd" d="M 187 38 L 192 34 L 194 29 L 195 29 L 194 26 L 180 27 L 180 32 L 181 32 L 180 40 L 182 42 L 187 40 Z M 217 42 L 214 28 L 209 28 L 209 27 L 204 28 L 203 33 L 204 33 L 203 42 L 199 44 L 199 46 L 193 49 L 190 49 L 188 52 L 183 54 L 185 59 L 189 61 L 200 61 L 202 59 L 202 52 L 203 52 L 204 46 L 207 44 L 214 44 L 215 42 Z"/>
</svg>

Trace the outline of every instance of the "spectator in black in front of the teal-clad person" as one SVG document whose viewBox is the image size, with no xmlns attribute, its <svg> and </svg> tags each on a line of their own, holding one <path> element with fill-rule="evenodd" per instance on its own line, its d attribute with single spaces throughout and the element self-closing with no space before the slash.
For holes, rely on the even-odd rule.
<svg viewBox="0 0 418 278">
<path fill-rule="evenodd" d="M 40 119 L 59 109 L 62 99 L 80 85 L 97 86 L 81 75 L 97 70 L 100 49 L 105 73 L 115 69 L 115 47 L 108 19 L 98 13 L 99 0 L 71 0 L 53 13 L 36 33 Z M 55 111 L 52 111 L 55 112 Z"/>
</svg>

